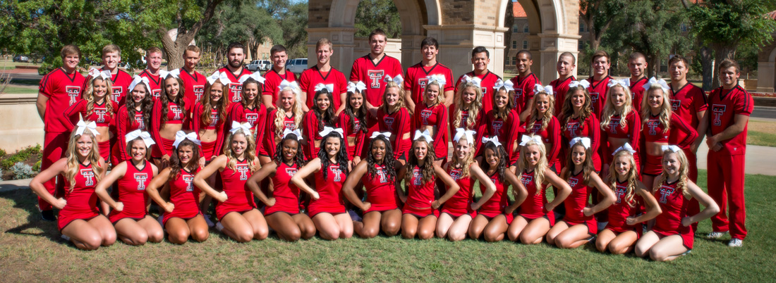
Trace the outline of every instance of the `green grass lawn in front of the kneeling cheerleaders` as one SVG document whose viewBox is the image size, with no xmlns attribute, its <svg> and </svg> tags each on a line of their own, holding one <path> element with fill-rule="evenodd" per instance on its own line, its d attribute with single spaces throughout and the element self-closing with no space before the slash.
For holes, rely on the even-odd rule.
<svg viewBox="0 0 776 283">
<path fill-rule="evenodd" d="M 705 171 L 701 185 L 705 187 Z M 166 241 L 95 251 L 60 239 L 39 220 L 29 190 L 0 192 L 2 281 L 771 281 L 776 277 L 776 177 L 747 176 L 750 236 L 743 248 L 695 239 L 695 250 L 669 263 L 601 254 L 591 244 L 560 250 L 542 243 L 403 240 L 379 236 L 333 242 L 236 243 L 211 230 L 204 243 Z M 700 223 L 699 235 L 711 230 Z"/>
</svg>

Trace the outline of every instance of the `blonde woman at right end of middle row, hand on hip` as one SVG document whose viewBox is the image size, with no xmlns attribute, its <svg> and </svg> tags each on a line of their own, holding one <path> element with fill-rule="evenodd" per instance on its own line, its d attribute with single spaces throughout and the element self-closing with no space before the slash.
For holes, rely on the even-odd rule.
<svg viewBox="0 0 776 283">
<path fill-rule="evenodd" d="M 641 109 L 643 121 L 641 136 L 644 137 L 644 150 L 642 151 L 646 158 L 644 158 L 641 170 L 641 181 L 646 188 L 653 188 L 655 176 L 663 172 L 661 161 L 663 146 L 673 143 L 678 144 L 679 147 L 687 148 L 698 138 L 698 132 L 688 123 L 684 123 L 684 119 L 681 119 L 680 116 L 672 115 L 673 111 L 668 97 L 670 88 L 668 88 L 666 81 L 650 78 L 644 87 L 646 95 L 644 95 L 641 104 L 643 105 Z M 677 130 L 683 134 L 677 133 Z M 679 136 L 687 138 L 679 140 Z"/>
</svg>

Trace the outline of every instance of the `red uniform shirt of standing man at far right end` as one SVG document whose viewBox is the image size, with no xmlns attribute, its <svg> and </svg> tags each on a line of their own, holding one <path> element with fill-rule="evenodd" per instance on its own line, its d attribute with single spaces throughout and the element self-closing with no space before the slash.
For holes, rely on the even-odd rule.
<svg viewBox="0 0 776 283">
<path fill-rule="evenodd" d="M 740 85 L 730 90 L 720 87 L 709 95 L 708 107 L 712 109 L 711 115 L 708 116 L 708 127 L 712 135 L 715 135 L 733 126 L 736 123 L 736 115 L 750 116 L 754 110 L 754 100 Z M 748 127 L 749 123 L 743 126 L 743 132 L 729 140 L 720 141 L 723 150 L 730 155 L 746 154 Z"/>
</svg>

